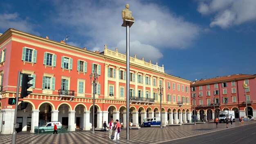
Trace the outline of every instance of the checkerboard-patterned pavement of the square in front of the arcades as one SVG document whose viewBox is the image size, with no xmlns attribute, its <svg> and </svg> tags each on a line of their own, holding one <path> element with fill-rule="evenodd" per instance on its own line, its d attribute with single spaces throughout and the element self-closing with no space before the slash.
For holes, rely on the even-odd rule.
<svg viewBox="0 0 256 144">
<path fill-rule="evenodd" d="M 256 123 L 256 121 L 245 122 L 244 125 Z M 233 126 L 229 123 L 229 128 L 242 126 L 239 122 L 234 122 Z M 130 140 L 126 140 L 126 129 L 122 129 L 120 133 L 120 140 L 108 139 L 108 131 L 74 131 L 72 133 L 63 133 L 58 135 L 43 134 L 35 135 L 31 133 L 17 133 L 17 144 L 157 144 L 168 140 L 176 140 L 193 135 L 200 135 L 204 133 L 224 130 L 225 123 L 216 124 L 186 124 L 182 126 L 166 126 L 146 127 L 140 129 L 130 130 Z M 0 144 L 11 144 L 11 135 L 0 135 Z"/>
</svg>

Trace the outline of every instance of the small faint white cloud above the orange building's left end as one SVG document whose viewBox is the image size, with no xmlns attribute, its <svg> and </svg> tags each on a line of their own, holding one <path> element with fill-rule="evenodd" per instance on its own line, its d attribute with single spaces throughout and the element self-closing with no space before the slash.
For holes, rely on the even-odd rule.
<svg viewBox="0 0 256 144">
<path fill-rule="evenodd" d="M 33 30 L 34 26 L 30 24 L 27 19 L 22 20 L 18 13 L 0 13 L 0 26 L 3 30 L 13 28 L 20 31 L 25 31 L 27 33 L 39 35 L 38 32 Z"/>
</svg>

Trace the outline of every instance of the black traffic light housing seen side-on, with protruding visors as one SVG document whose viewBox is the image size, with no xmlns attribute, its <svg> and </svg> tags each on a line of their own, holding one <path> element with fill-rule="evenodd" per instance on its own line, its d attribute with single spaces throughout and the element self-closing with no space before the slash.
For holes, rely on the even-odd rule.
<svg viewBox="0 0 256 144">
<path fill-rule="evenodd" d="M 30 80 L 33 80 L 33 78 L 29 77 L 29 75 L 22 76 L 21 93 L 20 93 L 21 98 L 27 97 L 27 95 L 32 93 L 32 91 L 27 91 L 27 89 L 29 89 L 29 87 L 33 86 L 33 84 L 28 84 L 28 82 Z"/>
</svg>

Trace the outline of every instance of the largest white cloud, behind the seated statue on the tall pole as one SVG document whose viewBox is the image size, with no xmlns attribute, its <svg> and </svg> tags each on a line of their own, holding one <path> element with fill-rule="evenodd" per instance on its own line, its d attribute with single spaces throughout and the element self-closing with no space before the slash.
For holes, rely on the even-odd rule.
<svg viewBox="0 0 256 144">
<path fill-rule="evenodd" d="M 99 1 L 69 1 L 56 3 L 58 18 L 52 18 L 57 24 L 76 29 L 76 33 L 85 38 L 85 47 L 108 48 L 123 46 L 126 40 L 126 28 L 121 27 L 121 10 L 126 2 L 112 0 Z M 193 40 L 201 32 L 200 27 L 187 22 L 182 17 L 175 16 L 166 7 L 140 1 L 129 1 L 135 23 L 130 28 L 130 53 L 137 54 L 147 60 L 162 58 L 161 50 L 184 49 L 191 46 Z M 146 53 L 152 50 L 157 55 Z M 123 51 L 124 52 L 124 51 Z"/>
</svg>

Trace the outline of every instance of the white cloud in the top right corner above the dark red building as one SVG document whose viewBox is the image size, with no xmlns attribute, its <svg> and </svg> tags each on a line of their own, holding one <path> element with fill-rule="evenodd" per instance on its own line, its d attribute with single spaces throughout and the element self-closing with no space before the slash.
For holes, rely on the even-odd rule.
<svg viewBox="0 0 256 144">
<path fill-rule="evenodd" d="M 198 12 L 202 15 L 213 13 L 211 27 L 222 29 L 256 20 L 256 0 L 200 0 Z"/>
</svg>

